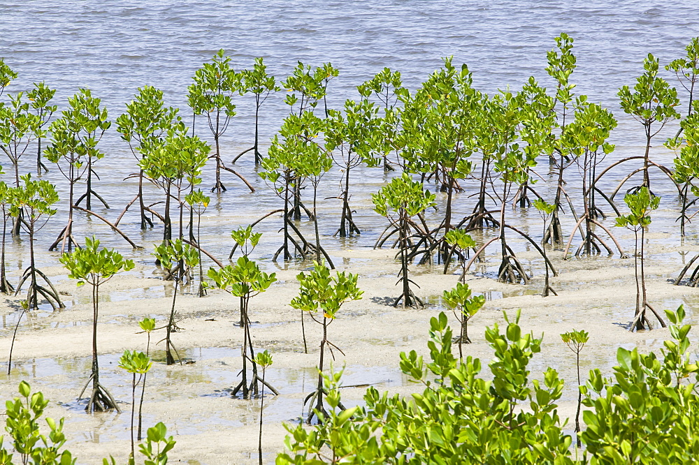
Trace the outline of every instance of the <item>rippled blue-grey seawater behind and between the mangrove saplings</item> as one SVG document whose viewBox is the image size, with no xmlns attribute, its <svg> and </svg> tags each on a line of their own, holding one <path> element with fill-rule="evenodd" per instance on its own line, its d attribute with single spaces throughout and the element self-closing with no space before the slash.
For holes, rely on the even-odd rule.
<svg viewBox="0 0 699 465">
<path fill-rule="evenodd" d="M 219 48 L 231 56 L 236 70 L 251 67 L 254 57 L 264 57 L 268 71 L 284 79 L 297 61 L 319 66 L 330 61 L 340 75 L 329 84 L 329 106 L 341 108 L 347 98 L 359 98 L 356 85 L 370 79 L 384 67 L 401 71 L 405 86 L 419 87 L 442 64 L 442 57 L 453 56 L 456 64 L 466 63 L 473 71 L 474 86 L 490 94 L 498 89 L 517 90 L 533 75 L 547 87 L 552 79 L 545 73 L 546 52 L 554 47 L 555 36 L 565 32 L 575 38 L 577 70 L 571 81 L 577 94 L 586 94 L 610 108 L 619 119 L 611 141 L 617 151 L 608 163 L 622 156 L 640 154 L 643 132 L 640 124 L 619 109 L 616 92 L 624 84 L 633 85 L 642 72 L 642 60 L 649 52 L 667 64 L 684 54 L 684 46 L 699 31 L 699 13 L 691 0 L 662 3 L 656 1 L 42 1 L 0 2 L 0 56 L 19 73 L 6 89 L 15 93 L 45 81 L 57 88 L 55 103 L 59 110 L 80 87 L 92 89 L 107 106 L 114 120 L 125 110 L 138 87 L 150 84 L 165 93 L 166 103 L 180 108 L 191 123 L 186 105 L 187 86 L 192 75 Z M 675 85 L 674 76 L 663 75 Z M 682 89 L 680 89 L 682 91 Z M 684 96 L 684 94 L 682 94 Z M 3 96 L 2 98 L 6 98 Z M 287 115 L 284 92 L 271 96 L 261 109 L 263 152 L 268 139 Z M 250 147 L 253 137 L 254 103 L 251 96 L 237 98 L 238 115 L 222 138 L 222 155 L 231 158 Z M 686 108 L 680 108 L 682 112 Z M 199 121 L 196 130 L 209 138 L 208 128 Z M 662 149 L 661 139 L 674 134 L 666 128 L 658 135 L 654 156 L 670 164 L 672 152 Z M 96 163 L 100 180 L 95 189 L 110 204 L 110 209 L 94 207 L 96 212 L 114 220 L 136 193 L 136 183 L 124 180 L 136 171 L 136 160 L 127 144 L 120 140 L 115 124 L 100 144 L 106 156 Z M 34 167 L 34 156 L 25 155 L 24 170 Z M 545 160 L 537 170 L 547 177 Z M 8 161 L 2 163 L 8 167 Z M 205 168 L 202 189 L 212 185 L 212 166 Z M 280 200 L 256 175 L 250 156 L 236 165 L 255 186 L 249 193 L 232 175 L 224 174 L 229 191 L 212 194 L 212 203 L 203 219 L 203 246 L 217 256 L 227 257 L 232 240 L 229 232 L 251 223 L 261 214 L 280 207 Z M 575 169 L 569 176 L 575 178 Z M 339 241 L 332 237 L 338 227 L 338 200 L 322 200 L 319 218 L 322 241 L 333 256 L 341 256 L 343 246 L 372 246 L 384 227 L 384 219 L 371 210 L 370 193 L 391 175 L 382 170 L 360 169 L 353 175 L 352 204 L 361 237 Z M 62 189 L 65 183 L 57 170 L 50 179 Z M 467 187 L 475 183 L 466 183 Z M 570 190 L 575 192 L 575 186 Z M 615 181 L 603 186 L 612 189 Z M 542 194 L 554 186 L 538 189 Z M 657 221 L 666 230 L 674 228 L 675 200 L 672 186 L 659 181 L 658 192 L 665 196 L 667 221 L 663 213 Z M 337 195 L 340 177 L 334 168 L 324 179 L 319 198 Z M 157 189 L 150 189 L 152 201 Z M 619 200 L 619 198 L 617 198 Z M 470 211 L 468 192 L 456 200 L 456 210 Z M 42 251 L 65 224 L 64 203 L 59 214 L 37 235 Z M 516 212 L 517 221 L 527 223 L 538 216 Z M 104 244 L 131 255 L 129 246 L 110 228 L 96 219 L 80 220 L 76 237 L 95 234 Z M 436 216 L 435 216 L 436 218 Z M 143 262 L 152 261 L 152 244 L 159 242 L 161 229 L 145 232 L 138 228 L 138 216 L 132 211 L 120 228 L 145 246 L 134 252 Z M 270 258 L 280 241 L 276 231 L 279 219 L 261 223 L 267 232 L 256 253 Z M 572 225 L 570 225 L 572 226 Z M 310 235 L 310 225 L 303 226 Z M 691 229 L 691 228 L 690 228 Z M 533 234 L 538 228 L 532 228 Z M 675 237 L 676 238 L 676 237 Z M 674 239 L 673 239 L 674 240 Z M 26 266 L 26 241 L 10 247 L 11 270 Z M 39 264 L 55 265 L 57 254 L 41 252 Z M 268 265 L 266 265 L 268 266 Z"/>
</svg>

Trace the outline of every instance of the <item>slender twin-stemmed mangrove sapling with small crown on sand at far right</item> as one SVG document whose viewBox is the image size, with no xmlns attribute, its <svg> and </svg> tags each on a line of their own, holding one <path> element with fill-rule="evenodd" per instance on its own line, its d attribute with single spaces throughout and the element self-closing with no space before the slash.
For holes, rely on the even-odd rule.
<svg viewBox="0 0 699 465">
<path fill-rule="evenodd" d="M 646 279 L 644 272 L 644 239 L 647 226 L 651 223 L 649 213 L 658 208 L 660 205 L 660 197 L 651 194 L 646 186 L 642 186 L 637 193 L 628 193 L 624 195 L 624 202 L 630 209 L 630 213 L 626 216 L 622 215 L 617 218 L 616 226 L 624 227 L 633 231 L 635 237 L 635 250 L 633 253 L 633 266 L 636 280 L 636 309 L 633 321 L 628 326 L 628 330 L 652 330 L 653 326 L 646 316 L 646 309 L 653 312 L 658 318 L 662 327 L 665 327 L 665 321 L 648 303 L 646 295 Z M 638 246 L 640 235 L 640 249 Z"/>
</svg>

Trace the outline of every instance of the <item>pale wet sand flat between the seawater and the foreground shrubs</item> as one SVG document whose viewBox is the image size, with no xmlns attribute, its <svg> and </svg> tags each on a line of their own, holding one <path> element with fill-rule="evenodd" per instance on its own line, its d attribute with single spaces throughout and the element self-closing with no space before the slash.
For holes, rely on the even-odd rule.
<svg viewBox="0 0 699 465">
<path fill-rule="evenodd" d="M 691 250 L 691 246 L 668 246 L 662 233 L 656 234 L 657 237 L 648 236 L 647 281 L 651 304 L 662 311 L 685 302 L 688 320 L 692 322 L 693 303 L 699 291 L 672 286 L 668 279 L 679 269 L 676 260 L 667 260 L 668 254 L 677 256 L 677 252 Z M 549 366 L 561 372 L 567 381 L 560 403 L 561 414 L 565 416 L 575 412 L 575 357 L 561 342 L 559 334 L 573 328 L 589 332 L 590 341 L 582 353 L 585 376 L 595 367 L 609 374 L 617 347 L 657 349 L 669 337 L 669 332 L 666 329 L 638 333 L 626 330 L 635 300 L 633 259 L 562 260 L 561 251 L 549 253 L 559 270 L 559 276 L 552 278 L 558 297 L 539 295 L 543 283 L 540 273 L 528 286 L 498 283 L 489 277 L 469 274 L 469 286 L 475 293 L 484 293 L 489 300 L 469 324 L 473 344 L 465 346 L 464 352 L 489 360 L 491 350 L 484 342 L 485 327 L 504 323 L 503 311 L 514 316 L 515 311 L 521 309 L 524 330 L 545 334 L 542 353 L 536 355 L 531 364 L 532 376 L 540 376 Z M 452 288 L 458 279 L 456 268 L 454 274 L 442 275 L 438 267 L 434 267 L 434 272 L 423 267 L 412 274 L 412 278 L 420 286 L 417 295 L 428 302 L 426 308 L 391 307 L 393 298 L 400 293 L 394 286 L 398 263 L 393 256 L 394 251 L 386 249 L 347 248 L 343 251 L 340 269 L 359 273 L 359 286 L 364 290 L 363 299 L 345 304 L 329 327 L 329 339 L 345 353 L 343 356 L 335 352 L 334 365 L 346 367 L 344 384 L 348 387 L 343 388 L 343 399 L 349 405 L 361 401 L 367 384 L 406 395 L 420 389 L 401 374 L 398 355 L 412 349 L 428 355 L 428 320 L 443 309 L 439 298 L 442 291 Z M 522 251 L 520 258 L 531 263 L 540 260 L 528 251 Z M 496 256 L 489 255 L 489 260 L 496 260 Z M 266 463 L 273 463 L 276 453 L 283 450 L 284 422 L 298 422 L 303 415 L 303 398 L 312 391 L 317 380 L 315 366 L 320 327 L 309 318 L 305 319 L 308 354 L 303 353 L 299 311 L 288 305 L 298 292 L 296 273 L 303 266 L 297 264 L 294 270 L 277 272 L 279 281 L 266 293 L 254 297 L 250 304 L 254 346 L 256 350 L 268 349 L 273 354 L 274 363 L 266 378 L 280 390 L 280 396 L 269 396 L 265 401 L 263 448 Z M 50 276 L 64 273 L 59 267 L 44 271 Z M 67 447 L 78 457 L 78 463 L 98 463 L 101 457 L 108 455 L 113 455 L 117 462 L 125 462 L 129 453 L 131 376 L 117 367 L 118 359 L 123 350 L 145 350 L 146 335 L 139 334 L 140 319 L 156 317 L 157 325 L 164 325 L 171 305 L 172 284 L 164 283 L 152 267 L 141 266 L 116 276 L 101 288 L 104 296 L 98 329 L 101 381 L 120 402 L 122 413 L 95 415 L 82 411 L 85 399 L 75 399 L 87 381 L 90 367 L 92 307 L 89 286 L 76 288 L 69 279 L 55 284 L 66 294 L 66 300 L 75 303 L 64 311 L 34 312 L 20 325 L 12 373 L 9 380 L 1 384 L 0 395 L 9 399 L 20 380 L 28 381 L 34 390 L 41 390 L 50 399 L 48 416 L 66 418 Z M 168 426 L 168 432 L 177 441 L 170 454 L 171 462 L 257 463 L 259 399 L 232 399 L 229 394 L 238 382 L 241 367 L 242 330 L 236 325 L 238 300 L 221 290 L 210 290 L 203 298 L 196 297 L 195 291 L 196 288 L 185 289 L 184 295 L 178 295 L 178 326 L 182 331 L 173 335 L 180 355 L 189 363 L 167 367 L 163 344 L 154 344 L 164 337 L 164 330 L 152 336 L 155 361 L 147 378 L 144 429 L 158 421 Z M 6 302 L 17 301 L 10 298 Z M 10 334 L 9 327 L 16 321 L 13 317 L 16 318 L 18 312 L 13 310 L 10 305 L 3 306 L 5 334 Z M 447 314 L 452 324 L 456 323 L 452 313 Z M 8 353 L 9 345 L 10 338 L 3 337 L 0 352 Z M 488 376 L 487 367 L 484 376 Z"/>
</svg>

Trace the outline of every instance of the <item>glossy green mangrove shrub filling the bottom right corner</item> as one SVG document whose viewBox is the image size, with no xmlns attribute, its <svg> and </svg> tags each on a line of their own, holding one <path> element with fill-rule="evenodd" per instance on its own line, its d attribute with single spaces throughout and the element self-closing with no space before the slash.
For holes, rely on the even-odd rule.
<svg viewBox="0 0 699 465">
<path fill-rule="evenodd" d="M 699 367 L 688 353 L 691 326 L 679 326 L 683 307 L 666 314 L 674 340 L 665 341 L 660 356 L 620 347 L 613 378 L 590 371 L 582 388 L 582 439 L 590 464 L 686 464 L 699 453 Z"/>
</svg>

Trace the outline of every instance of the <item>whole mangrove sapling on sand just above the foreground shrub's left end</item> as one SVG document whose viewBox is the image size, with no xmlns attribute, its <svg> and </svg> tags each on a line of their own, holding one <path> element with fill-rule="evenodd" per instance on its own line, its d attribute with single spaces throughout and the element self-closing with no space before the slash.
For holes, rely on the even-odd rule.
<svg viewBox="0 0 699 465">
<path fill-rule="evenodd" d="M 333 360 L 335 354 L 333 348 L 336 348 L 340 353 L 345 353 L 335 344 L 328 340 L 328 326 L 333 323 L 340 307 L 345 302 L 352 300 L 360 300 L 363 294 L 362 290 L 356 286 L 356 274 L 338 272 L 336 276 L 330 276 L 330 270 L 322 263 L 315 262 L 312 272 L 305 274 L 304 272 L 296 275 L 296 279 L 301 284 L 298 291 L 298 296 L 291 300 L 291 307 L 308 311 L 313 321 L 323 326 L 323 338 L 320 341 L 320 360 L 318 363 L 318 386 L 315 392 L 312 392 L 305 398 L 305 402 L 309 403 L 308 416 L 306 422 L 310 425 L 314 416 L 320 418 L 320 415 L 326 416 L 325 407 L 323 404 L 323 368 L 325 360 L 326 348 L 330 351 Z M 317 317 L 317 314 L 322 312 L 322 319 Z M 314 405 L 315 402 L 315 405 Z"/>
</svg>

